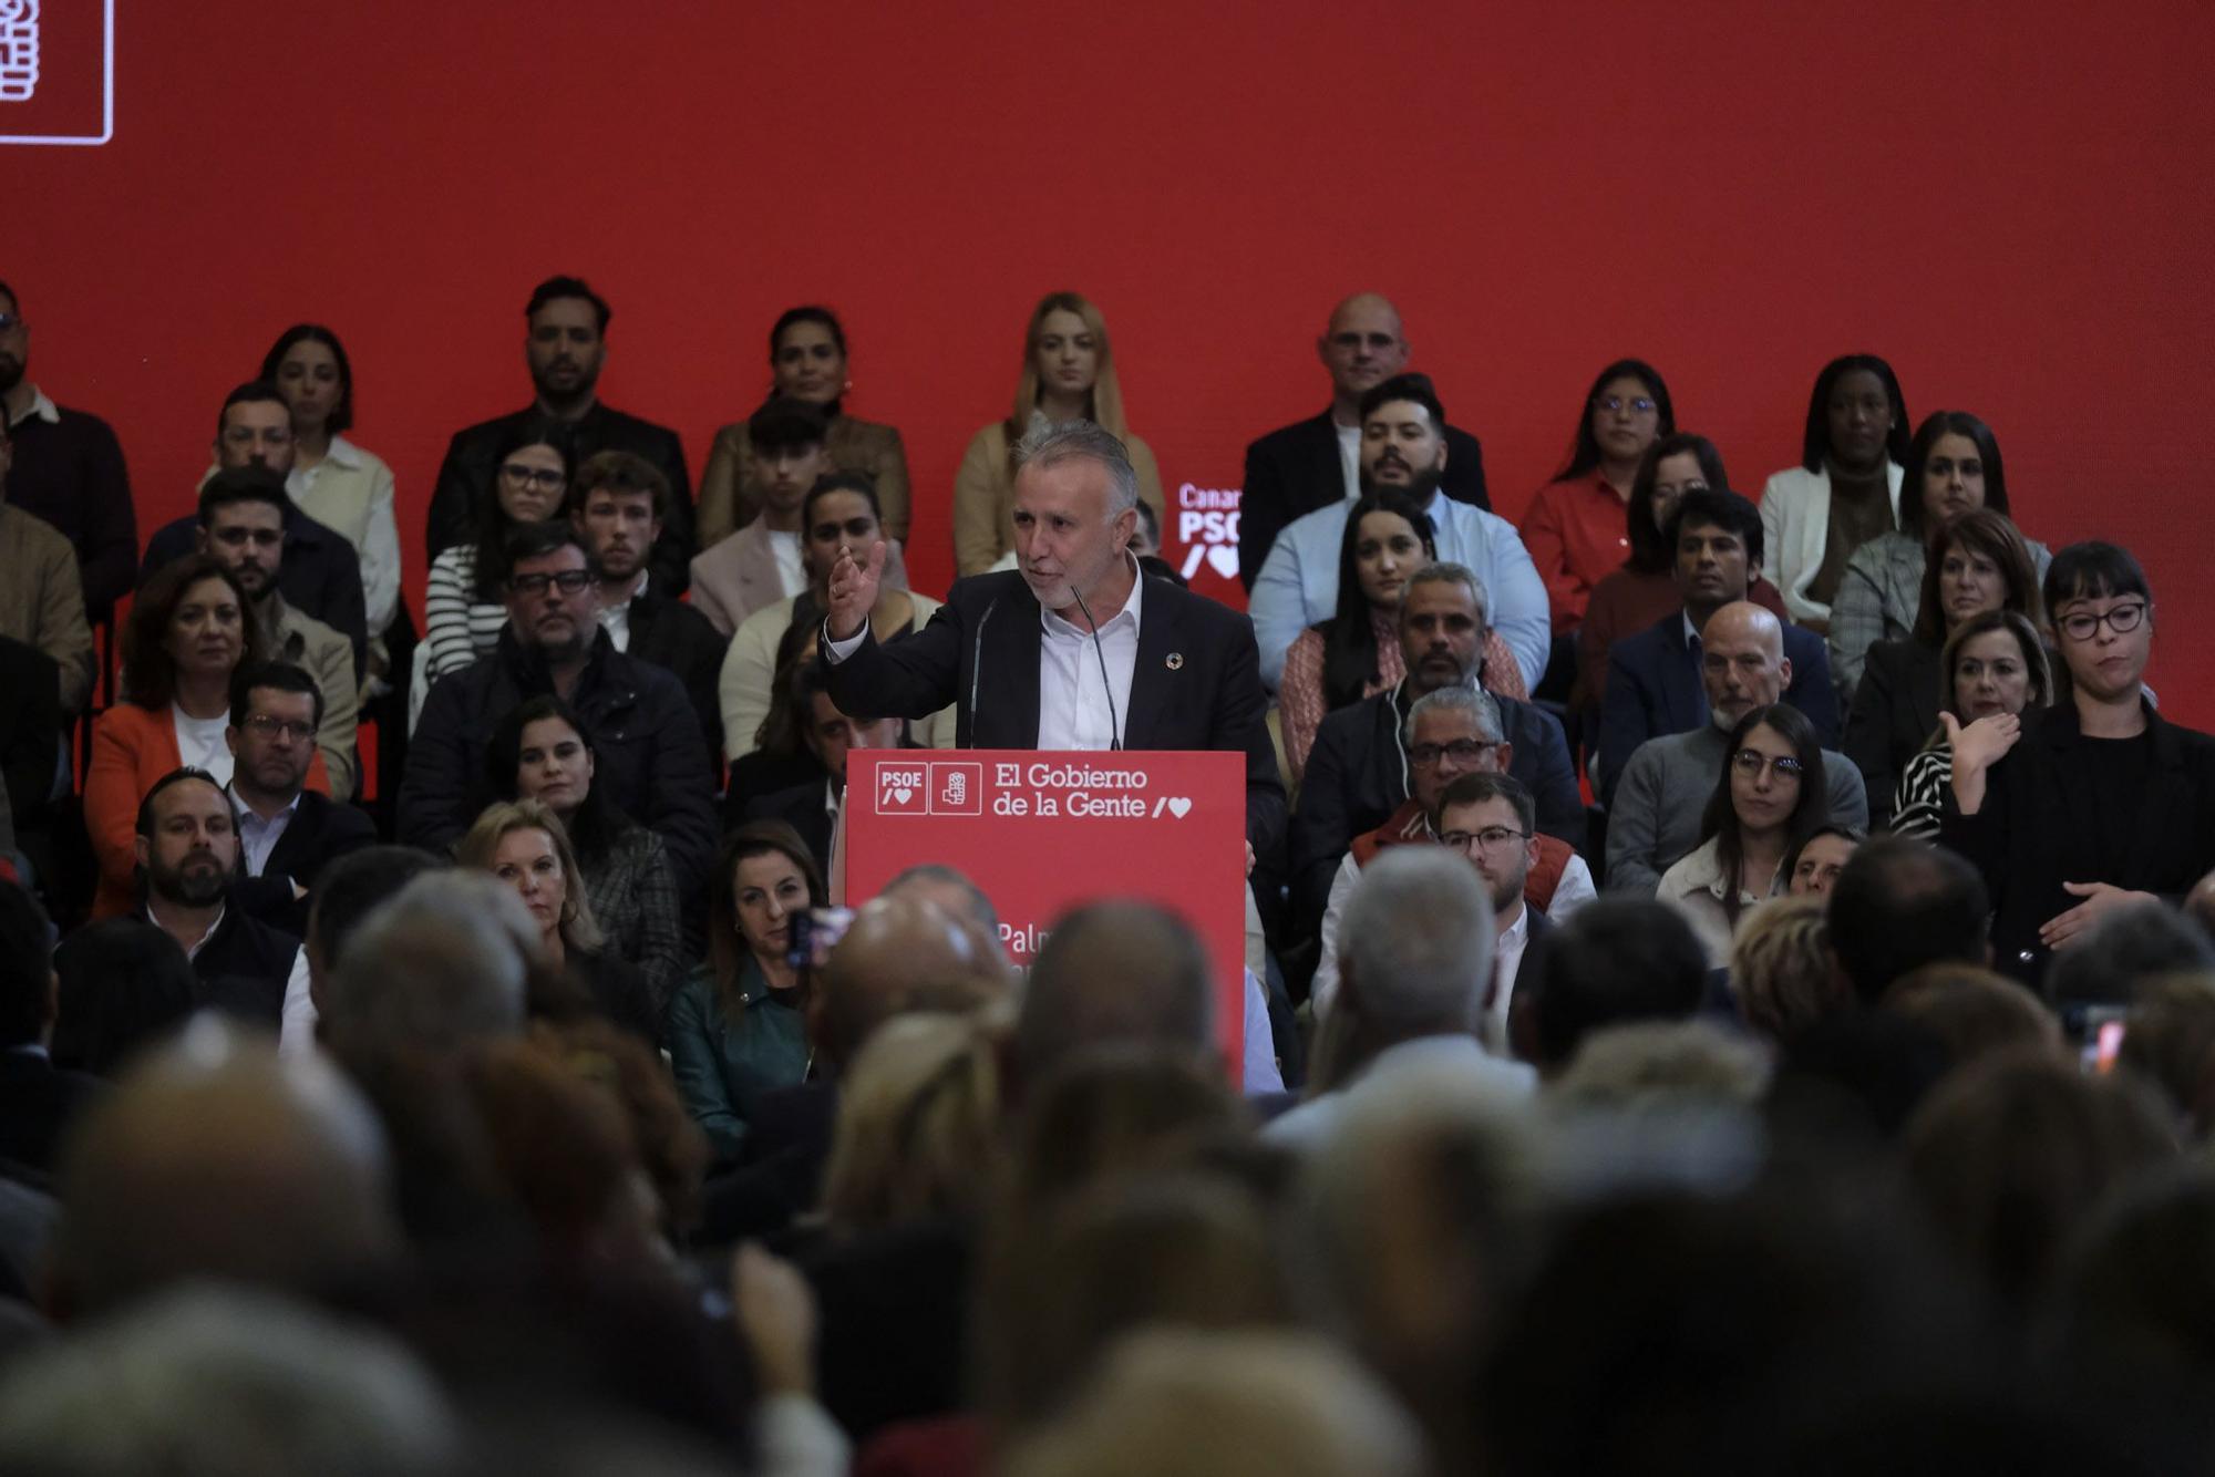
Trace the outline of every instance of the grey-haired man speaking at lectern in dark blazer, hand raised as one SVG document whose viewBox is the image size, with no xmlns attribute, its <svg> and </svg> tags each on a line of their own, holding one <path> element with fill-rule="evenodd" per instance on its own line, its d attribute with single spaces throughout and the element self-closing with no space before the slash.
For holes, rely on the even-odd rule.
<svg viewBox="0 0 2215 1477">
<path fill-rule="evenodd" d="M 844 713 L 924 717 L 957 702 L 964 748 L 1234 748 L 1247 841 L 1274 875 L 1285 786 L 1265 722 L 1254 624 L 1130 556 L 1139 474 L 1090 421 L 1034 423 L 1014 463 L 1014 569 L 957 580 L 921 631 L 868 627 L 884 545 L 842 547 L 824 618 Z M 857 558 L 859 554 L 859 558 Z"/>
</svg>

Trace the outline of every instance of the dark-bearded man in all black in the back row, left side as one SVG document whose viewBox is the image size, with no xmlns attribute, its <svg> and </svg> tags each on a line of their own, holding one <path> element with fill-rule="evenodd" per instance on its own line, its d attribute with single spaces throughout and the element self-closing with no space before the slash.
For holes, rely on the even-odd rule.
<svg viewBox="0 0 2215 1477">
<path fill-rule="evenodd" d="M 498 472 L 492 463 L 501 445 L 507 445 L 507 436 L 529 425 L 558 423 L 567 427 L 578 461 L 598 452 L 633 452 L 669 481 L 669 507 L 662 512 L 662 531 L 647 565 L 662 596 L 673 600 L 684 593 L 687 565 L 693 556 L 684 445 L 676 432 L 600 403 L 598 385 L 611 314 L 607 299 L 578 277 L 547 277 L 532 290 L 532 301 L 523 308 L 527 323 L 523 363 L 529 368 L 536 399 L 525 410 L 454 434 L 439 467 L 439 487 L 430 498 L 427 558 L 476 538 Z"/>
</svg>

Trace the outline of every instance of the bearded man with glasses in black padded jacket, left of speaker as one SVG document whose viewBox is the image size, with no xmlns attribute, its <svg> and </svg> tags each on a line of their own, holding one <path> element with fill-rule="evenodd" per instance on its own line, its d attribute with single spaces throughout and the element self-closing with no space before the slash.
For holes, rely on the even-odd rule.
<svg viewBox="0 0 2215 1477">
<path fill-rule="evenodd" d="M 399 839 L 452 846 L 492 799 L 492 731 L 525 698 L 554 693 L 598 740 L 594 784 L 662 837 L 684 897 L 715 848 L 707 748 L 684 686 L 616 651 L 594 616 L 591 560 L 567 523 L 516 529 L 507 556 L 507 627 L 494 653 L 441 678 L 423 704 L 401 777 Z"/>
</svg>

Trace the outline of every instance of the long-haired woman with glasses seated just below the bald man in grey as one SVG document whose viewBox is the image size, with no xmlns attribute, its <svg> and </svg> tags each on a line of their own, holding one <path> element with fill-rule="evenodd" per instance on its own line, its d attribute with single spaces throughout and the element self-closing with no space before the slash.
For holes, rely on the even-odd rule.
<svg viewBox="0 0 2215 1477">
<path fill-rule="evenodd" d="M 1701 844 L 1655 892 L 1692 923 L 1708 968 L 1723 968 L 1739 923 L 1785 890 L 1785 857 L 1830 819 L 1827 793 L 1823 746 L 1799 709 L 1772 702 L 1730 729 Z"/>
</svg>

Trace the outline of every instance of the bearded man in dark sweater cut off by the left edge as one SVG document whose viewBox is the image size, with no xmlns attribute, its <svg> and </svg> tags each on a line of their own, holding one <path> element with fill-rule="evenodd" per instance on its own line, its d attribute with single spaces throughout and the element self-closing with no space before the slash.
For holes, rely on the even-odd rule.
<svg viewBox="0 0 2215 1477">
<path fill-rule="evenodd" d="M 16 443 L 13 465 L 0 481 L 9 503 L 69 538 L 84 609 L 106 620 L 115 600 L 131 593 L 137 560 L 124 450 L 100 416 L 47 399 L 27 379 L 29 368 L 31 326 L 16 290 L 0 281 L 0 419 Z"/>
</svg>

